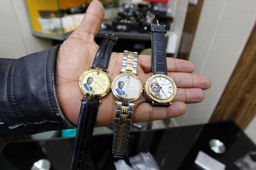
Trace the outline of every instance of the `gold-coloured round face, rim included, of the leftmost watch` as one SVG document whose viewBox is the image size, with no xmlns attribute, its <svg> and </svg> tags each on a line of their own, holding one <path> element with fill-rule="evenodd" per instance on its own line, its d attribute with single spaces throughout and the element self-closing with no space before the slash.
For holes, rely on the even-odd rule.
<svg viewBox="0 0 256 170">
<path fill-rule="evenodd" d="M 79 87 L 85 95 L 94 93 L 95 96 L 103 97 L 109 91 L 110 80 L 102 70 L 92 69 L 83 72 L 79 79 Z"/>
</svg>

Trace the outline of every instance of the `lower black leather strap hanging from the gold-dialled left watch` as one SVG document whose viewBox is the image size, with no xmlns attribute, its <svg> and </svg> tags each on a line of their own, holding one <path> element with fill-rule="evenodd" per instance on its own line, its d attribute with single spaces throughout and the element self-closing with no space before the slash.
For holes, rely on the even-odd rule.
<svg viewBox="0 0 256 170">
<path fill-rule="evenodd" d="M 87 98 L 81 100 L 71 170 L 84 169 L 86 154 L 92 141 L 93 128 L 99 109 L 99 101 L 90 102 Z"/>
</svg>

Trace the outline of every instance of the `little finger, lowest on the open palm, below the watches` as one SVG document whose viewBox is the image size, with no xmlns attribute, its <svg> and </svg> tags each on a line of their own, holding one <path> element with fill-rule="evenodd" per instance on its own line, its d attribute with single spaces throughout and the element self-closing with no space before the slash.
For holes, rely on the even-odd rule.
<svg viewBox="0 0 256 170">
<path fill-rule="evenodd" d="M 138 122 L 174 118 L 184 114 L 186 108 L 184 102 L 172 102 L 170 107 L 152 107 L 148 103 L 143 103 L 136 108 L 132 120 Z"/>
</svg>

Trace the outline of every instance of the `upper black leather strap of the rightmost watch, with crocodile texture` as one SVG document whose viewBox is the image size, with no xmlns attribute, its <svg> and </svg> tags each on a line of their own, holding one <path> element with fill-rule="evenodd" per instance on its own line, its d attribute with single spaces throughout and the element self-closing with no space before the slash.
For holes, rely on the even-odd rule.
<svg viewBox="0 0 256 170">
<path fill-rule="evenodd" d="M 163 25 L 152 24 L 150 32 L 152 42 L 152 73 L 163 73 L 167 75 L 166 50 L 164 45 L 166 29 Z"/>
</svg>

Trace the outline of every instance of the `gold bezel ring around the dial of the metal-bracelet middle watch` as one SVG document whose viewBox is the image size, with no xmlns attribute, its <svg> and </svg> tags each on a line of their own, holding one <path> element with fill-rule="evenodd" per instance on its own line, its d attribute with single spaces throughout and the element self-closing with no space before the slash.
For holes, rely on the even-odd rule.
<svg viewBox="0 0 256 170">
<path fill-rule="evenodd" d="M 142 82 L 141 82 L 140 78 L 137 75 L 135 75 L 134 73 L 124 72 L 124 73 L 120 73 L 120 74 L 116 75 L 115 79 L 113 79 L 113 81 L 111 83 L 111 91 L 112 91 L 112 93 L 115 95 L 116 98 L 118 98 L 120 100 L 124 100 L 124 97 L 118 95 L 116 93 L 116 91 L 115 91 L 115 82 L 116 82 L 116 80 L 119 79 L 120 77 L 124 76 L 124 75 L 129 75 L 129 76 L 134 77 L 135 79 L 138 80 L 138 82 L 140 84 L 140 91 L 139 91 L 138 95 L 136 95 L 133 98 L 125 98 L 125 99 L 127 99 L 129 102 L 133 102 L 135 100 L 138 100 L 138 98 L 140 98 L 140 96 L 141 96 L 141 94 L 143 92 L 143 85 L 142 85 Z"/>
</svg>

